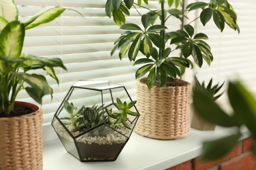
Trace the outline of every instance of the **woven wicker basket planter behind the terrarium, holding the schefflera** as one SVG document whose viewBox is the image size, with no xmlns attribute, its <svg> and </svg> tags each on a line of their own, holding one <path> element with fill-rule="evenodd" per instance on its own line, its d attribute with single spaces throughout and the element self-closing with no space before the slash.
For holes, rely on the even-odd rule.
<svg viewBox="0 0 256 170">
<path fill-rule="evenodd" d="M 135 126 L 139 135 L 154 139 L 180 139 L 190 132 L 190 83 L 184 86 L 152 86 L 137 80 L 137 109 L 140 118 Z"/>
</svg>

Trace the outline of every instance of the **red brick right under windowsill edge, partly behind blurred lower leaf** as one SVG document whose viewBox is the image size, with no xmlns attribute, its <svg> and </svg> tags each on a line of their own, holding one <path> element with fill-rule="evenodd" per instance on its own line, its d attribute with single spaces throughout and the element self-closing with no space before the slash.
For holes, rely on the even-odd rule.
<svg viewBox="0 0 256 170">
<path fill-rule="evenodd" d="M 194 160 L 192 160 L 192 168 L 194 170 L 203 170 L 203 169 L 207 169 L 209 167 L 212 167 L 214 165 L 217 165 L 217 164 L 221 163 L 224 160 L 228 160 L 229 158 L 233 158 L 234 156 L 238 156 L 238 154 L 240 153 L 239 148 L 240 148 L 240 145 L 236 144 L 234 149 L 229 154 L 227 154 L 223 158 L 221 158 L 219 160 L 215 160 L 215 161 L 200 161 L 198 158 L 195 158 Z"/>
</svg>

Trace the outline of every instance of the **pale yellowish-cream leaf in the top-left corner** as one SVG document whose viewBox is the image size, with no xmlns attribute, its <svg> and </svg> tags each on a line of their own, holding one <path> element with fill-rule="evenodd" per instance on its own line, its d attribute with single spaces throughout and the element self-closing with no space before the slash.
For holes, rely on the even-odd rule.
<svg viewBox="0 0 256 170">
<path fill-rule="evenodd" d="M 18 9 L 14 1 L 1 0 L 0 1 L 0 16 L 5 18 L 8 22 L 18 20 Z"/>
</svg>

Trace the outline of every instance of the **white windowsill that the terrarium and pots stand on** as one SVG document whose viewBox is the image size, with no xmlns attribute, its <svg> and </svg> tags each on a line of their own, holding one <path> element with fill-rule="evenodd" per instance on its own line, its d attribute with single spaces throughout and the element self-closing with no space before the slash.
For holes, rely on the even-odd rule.
<svg viewBox="0 0 256 170">
<path fill-rule="evenodd" d="M 217 126 L 215 131 L 198 131 L 191 129 L 187 137 L 176 140 L 157 140 L 142 137 L 133 132 L 116 161 L 80 162 L 66 152 L 59 139 L 43 143 L 43 169 L 167 169 L 200 155 L 202 142 L 224 137 L 234 133 L 233 128 Z M 249 137 L 249 131 L 244 128 L 243 137 Z"/>
</svg>

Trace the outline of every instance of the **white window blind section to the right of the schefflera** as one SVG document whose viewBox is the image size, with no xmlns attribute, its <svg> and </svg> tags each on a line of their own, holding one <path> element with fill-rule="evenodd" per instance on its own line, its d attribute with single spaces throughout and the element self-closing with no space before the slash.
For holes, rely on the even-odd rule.
<svg viewBox="0 0 256 170">
<path fill-rule="evenodd" d="M 240 80 L 256 95 L 256 3 L 253 0 L 229 0 L 238 15 L 240 34 L 225 25 L 223 33 L 211 22 L 205 27 L 198 23 L 198 32 L 206 33 L 213 52 L 213 63 L 210 67 L 203 65 L 195 68 L 198 79 L 202 82 L 222 83 L 228 80 Z M 223 88 L 224 90 L 224 88 Z M 226 95 L 222 96 L 226 99 Z"/>
</svg>

